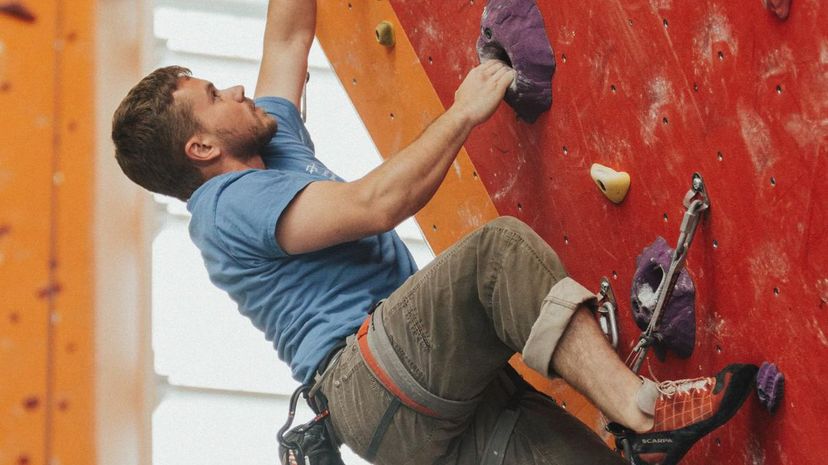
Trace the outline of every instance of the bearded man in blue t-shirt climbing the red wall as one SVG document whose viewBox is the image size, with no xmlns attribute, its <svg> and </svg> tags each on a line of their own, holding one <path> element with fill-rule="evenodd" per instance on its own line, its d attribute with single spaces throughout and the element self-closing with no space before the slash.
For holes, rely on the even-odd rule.
<svg viewBox="0 0 828 465">
<path fill-rule="evenodd" d="M 270 1 L 255 101 L 162 68 L 123 100 L 112 137 L 130 179 L 188 202 L 212 281 L 297 380 L 315 383 L 338 441 L 384 464 L 624 463 L 507 376 L 515 352 L 624 425 L 636 463 L 677 463 L 735 414 L 755 367 L 642 380 L 598 329 L 594 295 L 515 219 L 416 271 L 392 229 L 429 201 L 495 111 L 514 78 L 503 63 L 472 69 L 453 105 L 364 177 L 307 170 L 322 166 L 297 111 L 315 17 L 313 0 Z"/>
</svg>

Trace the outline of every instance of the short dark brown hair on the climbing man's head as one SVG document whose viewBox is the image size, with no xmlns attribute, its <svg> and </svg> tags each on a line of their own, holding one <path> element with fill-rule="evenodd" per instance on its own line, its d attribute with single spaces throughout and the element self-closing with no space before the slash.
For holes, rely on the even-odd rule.
<svg viewBox="0 0 828 465">
<path fill-rule="evenodd" d="M 173 92 L 190 70 L 159 68 L 124 98 L 112 118 L 115 159 L 124 174 L 141 187 L 186 201 L 204 176 L 185 153 L 187 140 L 201 130 L 187 102 Z"/>
</svg>

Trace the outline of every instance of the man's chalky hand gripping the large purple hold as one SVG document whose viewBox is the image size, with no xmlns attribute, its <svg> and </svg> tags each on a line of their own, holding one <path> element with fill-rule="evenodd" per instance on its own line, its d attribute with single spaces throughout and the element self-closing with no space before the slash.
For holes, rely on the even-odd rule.
<svg viewBox="0 0 828 465">
<path fill-rule="evenodd" d="M 469 71 L 454 94 L 450 111 L 476 126 L 492 116 L 514 79 L 515 70 L 502 61 L 489 60 Z"/>
</svg>

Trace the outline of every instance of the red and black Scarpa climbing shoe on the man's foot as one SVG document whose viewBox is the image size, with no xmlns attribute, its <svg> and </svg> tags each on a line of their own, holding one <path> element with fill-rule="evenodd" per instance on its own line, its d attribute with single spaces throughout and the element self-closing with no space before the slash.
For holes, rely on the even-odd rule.
<svg viewBox="0 0 828 465">
<path fill-rule="evenodd" d="M 607 426 L 633 465 L 675 465 L 702 436 L 727 422 L 753 391 L 758 368 L 729 365 L 716 377 L 658 384 L 653 429 Z"/>
</svg>

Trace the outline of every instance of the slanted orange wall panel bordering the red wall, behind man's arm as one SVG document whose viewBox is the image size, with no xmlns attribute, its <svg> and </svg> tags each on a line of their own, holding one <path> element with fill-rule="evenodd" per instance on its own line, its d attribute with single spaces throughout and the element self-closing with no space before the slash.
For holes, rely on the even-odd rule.
<svg viewBox="0 0 828 465">
<path fill-rule="evenodd" d="M 393 25 L 394 47 L 377 42 L 381 21 Z M 321 0 L 318 24 L 319 42 L 383 157 L 412 142 L 445 111 L 387 1 Z M 417 221 L 432 250 L 440 253 L 495 216 L 463 149 Z"/>
</svg>

